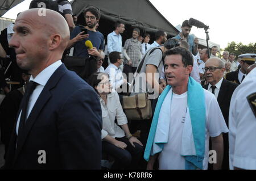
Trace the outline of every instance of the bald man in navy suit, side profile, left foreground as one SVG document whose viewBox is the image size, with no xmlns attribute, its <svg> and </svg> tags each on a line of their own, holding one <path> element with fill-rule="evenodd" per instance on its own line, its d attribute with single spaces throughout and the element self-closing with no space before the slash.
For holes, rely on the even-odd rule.
<svg viewBox="0 0 256 181">
<path fill-rule="evenodd" d="M 60 61 L 69 40 L 67 22 L 55 11 L 44 12 L 23 11 L 9 43 L 31 78 L 5 168 L 100 169 L 100 102 L 92 87 Z"/>
</svg>

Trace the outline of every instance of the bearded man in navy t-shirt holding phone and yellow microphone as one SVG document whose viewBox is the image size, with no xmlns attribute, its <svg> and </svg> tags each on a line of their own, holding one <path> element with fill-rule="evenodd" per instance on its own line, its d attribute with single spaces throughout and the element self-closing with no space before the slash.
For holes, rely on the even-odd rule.
<svg viewBox="0 0 256 181">
<path fill-rule="evenodd" d="M 100 12 L 95 7 L 88 7 L 85 12 L 85 27 L 76 26 L 71 33 L 71 40 L 69 40 L 68 46 L 74 46 L 73 56 L 88 58 L 89 55 L 103 58 L 100 51 L 104 50 L 104 36 L 101 32 L 96 30 L 96 24 L 100 20 Z M 87 33 L 82 31 L 82 28 L 86 28 Z M 92 41 L 93 48 L 88 49 L 85 47 L 85 41 Z"/>
</svg>

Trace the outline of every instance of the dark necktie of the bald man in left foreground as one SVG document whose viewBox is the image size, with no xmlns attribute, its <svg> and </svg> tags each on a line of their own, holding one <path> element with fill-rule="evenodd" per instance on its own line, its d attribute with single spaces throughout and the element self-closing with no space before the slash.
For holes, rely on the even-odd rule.
<svg viewBox="0 0 256 181">
<path fill-rule="evenodd" d="M 26 118 L 27 118 L 27 106 L 28 106 L 28 100 L 30 99 L 30 96 L 32 92 L 35 90 L 35 87 L 38 85 L 38 83 L 34 81 L 30 81 L 27 83 L 27 86 L 25 88 L 25 94 L 24 94 L 24 102 L 22 105 L 22 114 L 20 116 L 20 121 L 19 121 L 19 132 L 23 129 L 25 123 L 26 123 Z"/>
</svg>

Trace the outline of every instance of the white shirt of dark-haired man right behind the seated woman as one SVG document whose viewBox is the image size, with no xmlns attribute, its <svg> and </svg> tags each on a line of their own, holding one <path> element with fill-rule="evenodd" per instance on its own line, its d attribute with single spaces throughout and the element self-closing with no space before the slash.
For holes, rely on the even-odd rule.
<svg viewBox="0 0 256 181">
<path fill-rule="evenodd" d="M 122 70 L 114 64 L 110 64 L 106 68 L 105 73 L 109 74 L 109 81 L 115 90 L 117 90 L 123 84 Z"/>
</svg>

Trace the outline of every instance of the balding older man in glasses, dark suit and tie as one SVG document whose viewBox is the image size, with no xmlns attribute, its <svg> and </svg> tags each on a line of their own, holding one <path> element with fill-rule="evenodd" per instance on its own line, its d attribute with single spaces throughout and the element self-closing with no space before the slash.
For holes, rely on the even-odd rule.
<svg viewBox="0 0 256 181">
<path fill-rule="evenodd" d="M 232 94 L 236 87 L 236 83 L 226 81 L 224 79 L 225 64 L 219 58 L 210 58 L 205 62 L 204 74 L 208 84 L 204 85 L 204 89 L 212 92 L 221 108 L 222 115 L 228 126 L 229 105 Z M 223 133 L 224 138 L 224 159 L 222 169 L 229 169 L 229 148 L 228 148 L 228 133 Z"/>
</svg>

